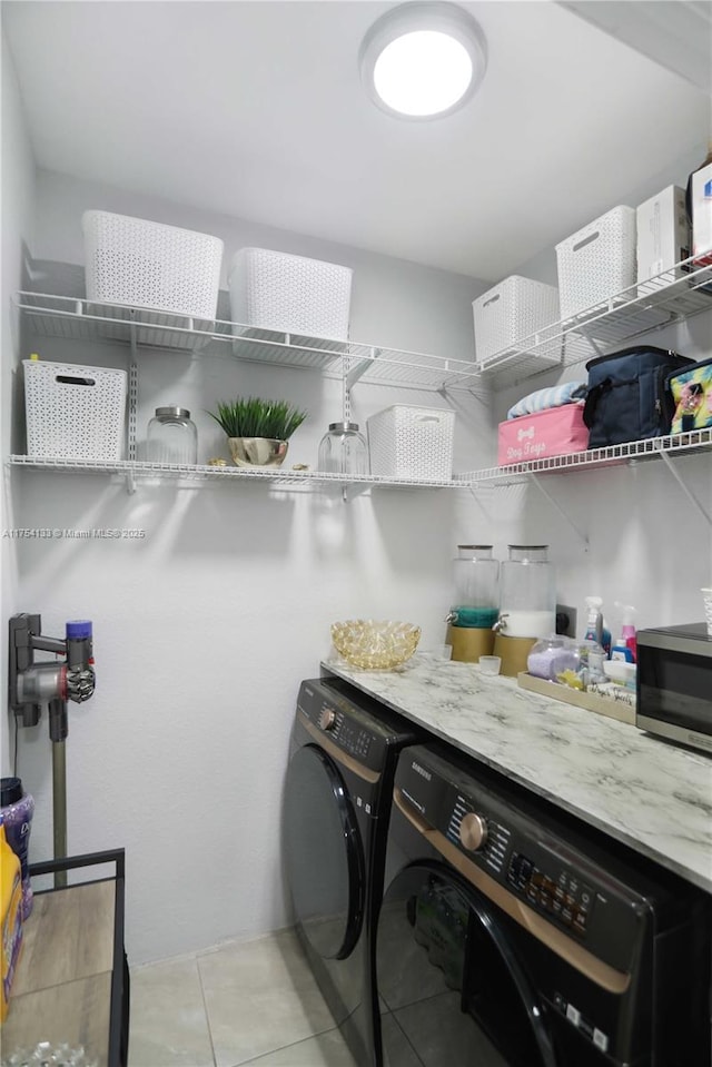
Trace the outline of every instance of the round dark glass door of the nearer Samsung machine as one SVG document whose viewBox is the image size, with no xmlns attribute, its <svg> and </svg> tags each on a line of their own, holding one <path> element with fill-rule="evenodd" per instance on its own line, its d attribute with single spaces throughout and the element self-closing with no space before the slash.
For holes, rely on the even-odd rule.
<svg viewBox="0 0 712 1067">
<path fill-rule="evenodd" d="M 424 860 L 396 876 L 376 947 L 387 1067 L 555 1067 L 506 929 L 452 868 Z"/>
</svg>

